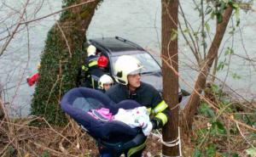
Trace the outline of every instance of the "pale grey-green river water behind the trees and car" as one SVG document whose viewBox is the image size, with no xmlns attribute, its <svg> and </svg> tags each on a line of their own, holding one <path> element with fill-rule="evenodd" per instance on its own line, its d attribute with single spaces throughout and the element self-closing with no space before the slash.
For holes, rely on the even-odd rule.
<svg viewBox="0 0 256 157">
<path fill-rule="evenodd" d="M 22 7 L 22 1 L 16 2 L 6 0 L 0 3 L 0 39 L 8 35 L 6 25 L 15 25 L 19 20 L 16 13 Z M 6 4 L 4 4 L 6 3 Z M 187 15 L 189 23 L 193 28 L 199 25 L 198 13 L 195 11 L 195 5 L 187 1 L 181 1 L 183 11 Z M 143 48 L 150 49 L 154 57 L 160 60 L 160 1 L 156 0 L 104 0 L 100 7 L 96 10 L 89 30 L 86 36 L 90 38 L 121 36 L 132 42 L 136 42 Z M 253 6 L 255 8 L 255 5 Z M 38 12 L 35 13 L 36 8 Z M 40 9 L 39 9 L 40 8 Z M 27 18 L 34 19 L 46 14 L 53 13 L 61 9 L 61 1 L 31 1 L 27 13 Z M 241 31 L 236 29 L 234 39 L 229 39 L 229 33 L 224 36 L 223 44 L 225 47 L 232 45 L 234 52 L 241 56 L 250 56 L 256 60 L 256 13 L 241 11 Z M 34 87 L 26 85 L 26 76 L 32 75 L 37 71 L 37 64 L 40 62 L 40 53 L 44 48 L 44 40 L 50 27 L 58 20 L 59 14 L 50 16 L 44 20 L 32 22 L 21 30 L 10 42 L 7 51 L 0 56 L 0 83 L 4 87 L 4 101 L 11 115 L 24 116 L 29 114 L 30 103 Z M 233 19 L 234 23 L 236 18 Z M 183 24 L 183 22 L 182 22 Z M 230 25 L 232 23 L 230 22 Z M 210 25 L 214 25 L 210 23 Z M 9 28 L 13 31 L 14 27 Z M 29 33 L 27 33 L 27 30 Z M 214 26 L 211 26 L 214 31 Z M 228 28 L 230 31 L 230 27 Z M 27 36 L 29 34 L 29 37 Z M 213 33 L 210 34 L 211 36 Z M 242 37 L 241 37 L 242 36 Z M 193 64 L 193 55 L 186 46 L 182 36 L 179 37 L 179 61 L 181 77 L 193 86 L 196 73 L 189 66 L 195 67 Z M 29 38 L 29 42 L 28 42 Z M 225 42 L 229 39 L 228 42 Z M 29 44 L 28 44 L 29 43 Z M 0 41 L 0 48 L 3 47 L 3 40 Z M 220 51 L 222 48 L 220 48 Z M 247 54 L 246 54 L 246 53 Z M 226 79 L 226 83 L 236 90 L 237 93 L 247 97 L 256 98 L 256 77 L 255 62 L 254 67 L 248 66 L 250 62 L 241 59 L 236 55 L 222 56 L 220 61 L 228 63 L 230 59 L 230 67 L 224 67 L 224 70 L 218 72 L 218 78 Z M 185 65 L 188 64 L 188 65 Z M 227 71 L 230 72 L 227 74 Z M 240 79 L 237 79 L 241 77 Z M 236 77 L 234 79 L 234 77 Z M 180 84 L 189 89 L 185 82 Z M 20 86 L 18 86 L 20 85 Z"/>
</svg>

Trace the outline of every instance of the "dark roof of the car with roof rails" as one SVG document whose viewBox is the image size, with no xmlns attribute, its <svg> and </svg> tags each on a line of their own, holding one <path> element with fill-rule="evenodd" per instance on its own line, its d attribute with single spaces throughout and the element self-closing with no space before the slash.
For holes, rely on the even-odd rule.
<svg viewBox="0 0 256 157">
<path fill-rule="evenodd" d="M 102 37 L 96 39 L 90 39 L 89 42 L 96 46 L 96 48 L 102 48 L 108 53 L 122 53 L 125 51 L 144 51 L 142 47 L 134 42 L 130 42 L 119 36 L 115 37 Z"/>
</svg>

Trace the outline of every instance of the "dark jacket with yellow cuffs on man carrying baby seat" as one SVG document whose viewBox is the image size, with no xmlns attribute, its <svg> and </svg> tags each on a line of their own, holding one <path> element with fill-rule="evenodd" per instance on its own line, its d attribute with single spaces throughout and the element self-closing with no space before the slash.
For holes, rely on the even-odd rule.
<svg viewBox="0 0 256 157">
<path fill-rule="evenodd" d="M 141 86 L 137 87 L 134 93 L 131 93 L 127 86 L 117 83 L 113 85 L 113 87 L 110 87 L 106 94 L 115 103 L 119 103 L 125 99 L 133 99 L 139 104 L 147 107 L 151 115 L 154 115 L 152 121 L 154 121 L 156 125 L 155 128 L 164 126 L 168 120 L 168 105 L 154 87 L 143 81 L 141 81 Z"/>
</svg>

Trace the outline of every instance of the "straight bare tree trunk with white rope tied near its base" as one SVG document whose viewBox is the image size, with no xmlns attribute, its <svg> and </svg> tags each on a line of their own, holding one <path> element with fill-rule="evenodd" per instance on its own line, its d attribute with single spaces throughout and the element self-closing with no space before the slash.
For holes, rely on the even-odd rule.
<svg viewBox="0 0 256 157">
<path fill-rule="evenodd" d="M 164 99 L 169 105 L 171 116 L 163 128 L 163 139 L 170 142 L 177 139 L 178 128 L 178 78 L 170 69 L 171 64 L 177 70 L 177 11 L 178 0 L 162 0 L 162 71 Z M 167 62 L 167 63 L 166 63 Z M 178 146 L 167 147 L 163 145 L 163 154 L 178 155 Z"/>
</svg>

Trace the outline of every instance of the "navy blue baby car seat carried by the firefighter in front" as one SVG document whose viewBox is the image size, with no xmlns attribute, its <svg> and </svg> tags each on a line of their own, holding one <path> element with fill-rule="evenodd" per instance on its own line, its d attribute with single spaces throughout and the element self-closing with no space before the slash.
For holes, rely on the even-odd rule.
<svg viewBox="0 0 256 157">
<path fill-rule="evenodd" d="M 61 109 L 96 139 L 101 154 L 111 156 L 119 156 L 124 152 L 130 156 L 132 152 L 138 151 L 131 148 L 144 148 L 147 137 L 143 135 L 141 128 L 131 128 L 121 121 L 96 120 L 88 112 L 91 109 L 107 108 L 115 115 L 119 108 L 134 109 L 139 106 L 133 100 L 115 104 L 104 93 L 87 87 L 73 88 L 61 99 Z"/>
</svg>

